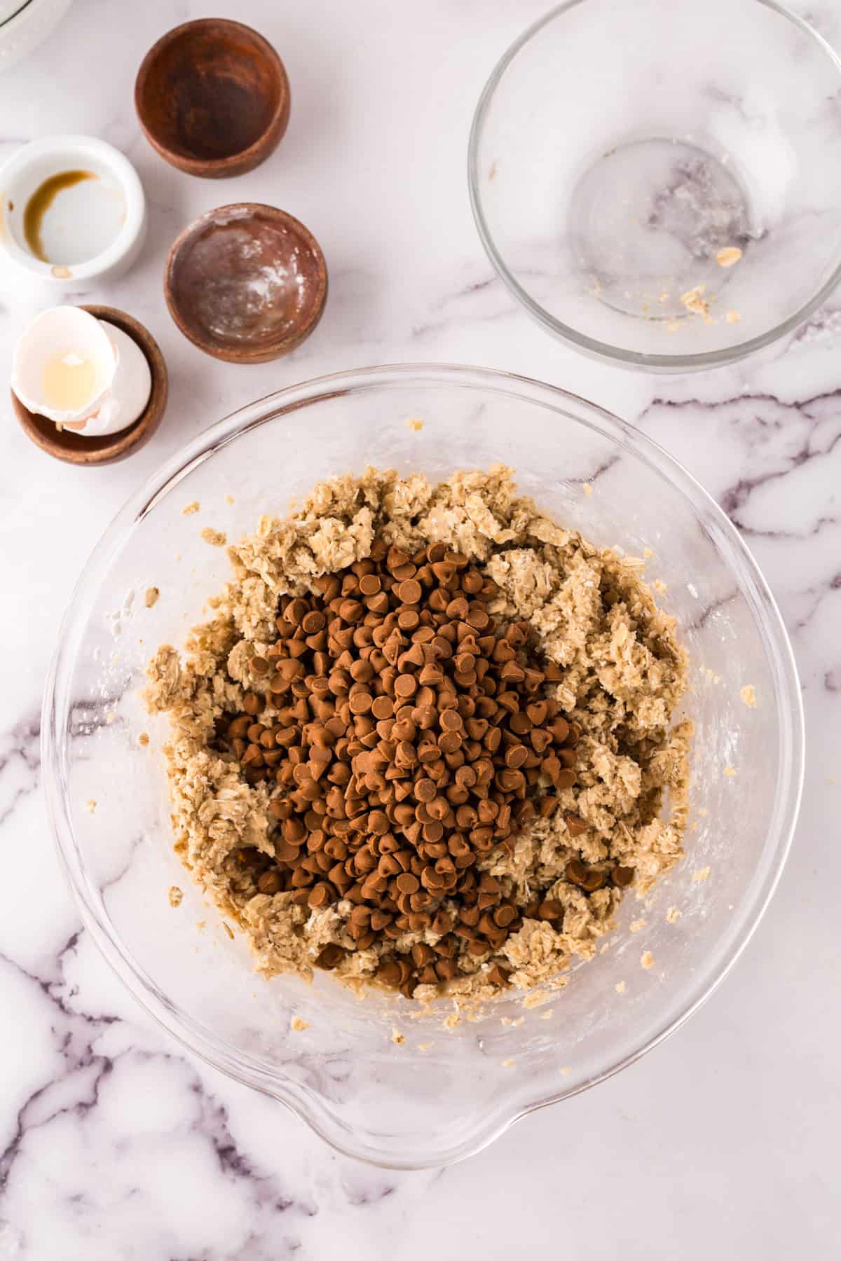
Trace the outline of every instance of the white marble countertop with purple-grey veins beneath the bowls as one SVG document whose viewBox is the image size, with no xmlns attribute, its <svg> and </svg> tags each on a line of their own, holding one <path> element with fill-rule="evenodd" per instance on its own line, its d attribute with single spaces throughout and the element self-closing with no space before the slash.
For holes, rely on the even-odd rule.
<svg viewBox="0 0 841 1261">
<path fill-rule="evenodd" d="M 113 468 L 42 455 L 3 405 L 0 603 L 0 1256 L 32 1261 L 440 1261 L 530 1251 L 612 1261 L 837 1255 L 841 888 L 841 298 L 760 358 L 629 375 L 554 343 L 494 279 L 465 184 L 473 105 L 546 0 L 241 0 L 217 5 L 285 58 L 277 154 L 228 183 L 165 165 L 134 116 L 145 49 L 197 0 L 76 0 L 0 79 L 0 159 L 57 131 L 122 149 L 149 238 L 132 272 L 69 300 L 148 323 L 171 393 L 155 439 Z M 841 47 L 841 14 L 809 15 Z M 195 214 L 272 202 L 330 266 L 320 328 L 289 359 L 217 363 L 163 300 L 165 251 Z M 0 291 L 0 376 L 38 301 Z M 536 1113 L 474 1159 L 392 1174 L 335 1155 L 281 1107 L 190 1059 L 148 1020 L 81 929 L 40 792 L 40 694 L 76 576 L 129 492 L 227 411 L 369 363 L 488 364 L 555 382 L 663 443 L 711 491 L 780 604 L 807 711 L 794 847 L 731 976 L 675 1038 Z"/>
</svg>

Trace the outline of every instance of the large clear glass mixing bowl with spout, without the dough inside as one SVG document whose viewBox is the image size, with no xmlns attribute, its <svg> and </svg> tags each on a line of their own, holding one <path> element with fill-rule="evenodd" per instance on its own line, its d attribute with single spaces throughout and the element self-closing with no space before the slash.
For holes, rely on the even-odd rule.
<svg viewBox="0 0 841 1261">
<path fill-rule="evenodd" d="M 692 826 L 686 860 L 644 904 L 625 899 L 609 948 L 572 970 L 551 1018 L 541 1019 L 550 1008 L 523 1009 L 521 995 L 448 1030 L 446 1001 L 412 1019 L 407 1000 L 359 1001 L 329 975 L 311 986 L 253 975 L 171 851 L 158 752 L 166 724 L 150 721 L 137 692 L 154 648 L 183 643 L 228 578 L 224 551 L 199 537 L 203 526 L 235 538 L 322 478 L 366 464 L 441 478 L 499 460 L 516 468 L 523 493 L 594 542 L 653 550 L 651 578 L 667 584 L 663 604 L 692 657 Z M 194 499 L 200 513 L 183 516 Z M 148 609 L 153 585 L 160 599 Z M 748 683 L 755 709 L 740 699 Z M 86 927 L 131 992 L 190 1050 L 289 1105 L 335 1148 L 395 1168 L 474 1153 L 676 1029 L 757 927 L 789 845 L 803 768 L 799 689 L 779 614 L 697 483 L 632 426 L 561 390 L 416 364 L 281 390 L 165 464 L 79 579 L 43 733 L 63 863 Z M 693 878 L 707 866 L 709 879 Z M 175 909 L 171 885 L 184 890 Z M 667 922 L 671 907 L 682 912 L 676 922 Z M 635 918 L 648 927 L 629 934 Z M 653 955 L 648 970 L 643 951 Z M 295 1031 L 293 1016 L 309 1028 Z M 392 1042 L 395 1028 L 405 1042 Z"/>
</svg>

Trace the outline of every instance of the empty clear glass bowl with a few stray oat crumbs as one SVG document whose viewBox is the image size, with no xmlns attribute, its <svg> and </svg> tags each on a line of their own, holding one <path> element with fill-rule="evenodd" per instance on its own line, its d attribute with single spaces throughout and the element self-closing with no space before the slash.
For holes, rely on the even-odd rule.
<svg viewBox="0 0 841 1261">
<path fill-rule="evenodd" d="M 686 371 L 791 332 L 841 276 L 841 62 L 773 0 L 571 0 L 479 101 L 470 198 L 545 328 Z"/>
</svg>

